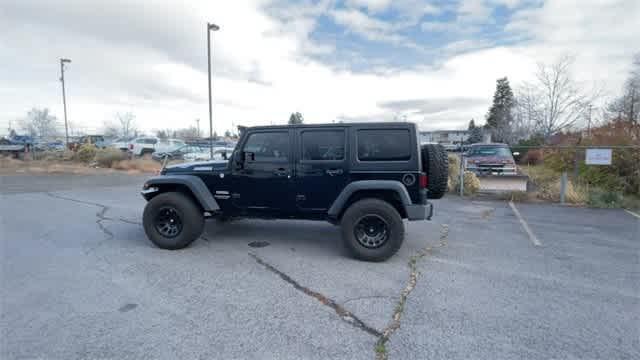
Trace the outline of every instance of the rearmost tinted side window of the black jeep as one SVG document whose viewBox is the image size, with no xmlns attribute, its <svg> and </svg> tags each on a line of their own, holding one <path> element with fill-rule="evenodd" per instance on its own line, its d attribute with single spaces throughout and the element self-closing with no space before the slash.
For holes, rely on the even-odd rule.
<svg viewBox="0 0 640 360">
<path fill-rule="evenodd" d="M 411 159 L 411 134 L 407 129 L 358 130 L 357 142 L 360 161 Z"/>
</svg>

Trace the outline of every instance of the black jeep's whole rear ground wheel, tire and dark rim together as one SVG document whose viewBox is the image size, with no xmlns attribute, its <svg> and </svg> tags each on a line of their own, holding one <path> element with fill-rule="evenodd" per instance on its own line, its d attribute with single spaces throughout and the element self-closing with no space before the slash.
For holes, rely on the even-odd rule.
<svg viewBox="0 0 640 360">
<path fill-rule="evenodd" d="M 402 217 L 391 204 L 379 199 L 353 203 L 340 225 L 345 247 L 360 260 L 385 261 L 400 249 L 404 240 Z"/>
</svg>

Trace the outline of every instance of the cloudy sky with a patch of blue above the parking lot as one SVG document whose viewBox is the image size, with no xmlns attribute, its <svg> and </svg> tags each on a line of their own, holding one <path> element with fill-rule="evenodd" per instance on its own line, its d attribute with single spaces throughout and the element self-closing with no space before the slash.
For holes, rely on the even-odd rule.
<svg viewBox="0 0 640 360">
<path fill-rule="evenodd" d="M 514 87 L 536 64 L 574 57 L 574 77 L 620 91 L 640 51 L 638 0 L 0 0 L 0 134 L 34 107 L 64 130 L 61 57 L 73 132 L 115 115 L 136 126 L 208 131 L 213 122 L 484 123 L 495 81 Z"/>
</svg>

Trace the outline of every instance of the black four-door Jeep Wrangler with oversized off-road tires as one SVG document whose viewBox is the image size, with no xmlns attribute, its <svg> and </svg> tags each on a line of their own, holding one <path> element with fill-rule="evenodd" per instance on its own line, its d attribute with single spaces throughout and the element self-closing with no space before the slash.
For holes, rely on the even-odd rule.
<svg viewBox="0 0 640 360">
<path fill-rule="evenodd" d="M 147 180 L 144 230 L 163 249 L 197 239 L 206 217 L 326 220 L 356 258 L 383 261 L 402 219 L 430 219 L 447 187 L 447 155 L 420 146 L 415 124 L 247 128 L 229 161 L 166 167 Z"/>
</svg>

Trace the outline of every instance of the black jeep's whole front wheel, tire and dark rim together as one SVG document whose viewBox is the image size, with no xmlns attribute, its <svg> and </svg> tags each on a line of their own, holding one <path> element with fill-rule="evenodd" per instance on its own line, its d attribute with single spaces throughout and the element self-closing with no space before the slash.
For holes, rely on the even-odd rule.
<svg viewBox="0 0 640 360">
<path fill-rule="evenodd" d="M 189 246 L 202 234 L 204 214 L 187 196 L 167 192 L 149 200 L 142 223 L 157 247 L 176 250 Z"/>
</svg>

